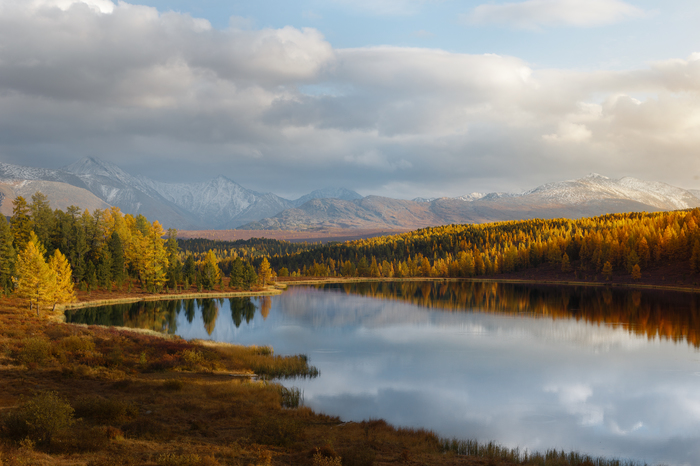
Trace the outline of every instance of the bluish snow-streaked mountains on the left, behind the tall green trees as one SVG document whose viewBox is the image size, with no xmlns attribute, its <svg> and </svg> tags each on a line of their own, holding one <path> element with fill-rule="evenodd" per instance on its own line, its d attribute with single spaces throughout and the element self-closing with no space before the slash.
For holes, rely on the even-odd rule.
<svg viewBox="0 0 700 466">
<path fill-rule="evenodd" d="M 51 185 L 50 193 L 49 185 Z M 32 187 L 36 187 L 34 191 Z M 361 199 L 344 188 L 312 191 L 296 200 L 259 193 L 219 176 L 204 183 L 163 183 L 133 176 L 113 163 L 87 157 L 59 170 L 0 163 L 0 212 L 10 215 L 11 200 L 28 200 L 36 191 L 49 197 L 53 208 L 73 204 L 82 208 L 119 207 L 124 213 L 142 214 L 165 227 L 178 229 L 232 229 L 273 216 L 319 197 Z"/>
</svg>

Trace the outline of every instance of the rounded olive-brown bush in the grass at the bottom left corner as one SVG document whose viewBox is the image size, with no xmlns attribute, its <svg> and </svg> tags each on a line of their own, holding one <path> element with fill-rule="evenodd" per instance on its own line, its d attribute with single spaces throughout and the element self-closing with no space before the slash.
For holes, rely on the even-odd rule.
<svg viewBox="0 0 700 466">
<path fill-rule="evenodd" d="M 16 439 L 28 437 L 50 445 L 54 435 L 75 422 L 73 408 L 56 392 L 40 392 L 5 417 L 5 430 Z"/>
</svg>

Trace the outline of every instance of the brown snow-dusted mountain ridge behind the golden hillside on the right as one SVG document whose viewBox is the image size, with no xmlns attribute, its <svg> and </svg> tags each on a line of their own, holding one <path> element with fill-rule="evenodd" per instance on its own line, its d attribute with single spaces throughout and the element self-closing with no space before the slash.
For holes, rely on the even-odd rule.
<svg viewBox="0 0 700 466">
<path fill-rule="evenodd" d="M 591 174 L 549 183 L 522 194 L 472 193 L 459 198 L 397 201 L 312 201 L 244 225 L 241 229 L 422 228 L 449 223 L 484 223 L 532 218 L 580 218 L 607 213 L 660 211 L 700 206 L 692 192 L 635 178 Z"/>
</svg>

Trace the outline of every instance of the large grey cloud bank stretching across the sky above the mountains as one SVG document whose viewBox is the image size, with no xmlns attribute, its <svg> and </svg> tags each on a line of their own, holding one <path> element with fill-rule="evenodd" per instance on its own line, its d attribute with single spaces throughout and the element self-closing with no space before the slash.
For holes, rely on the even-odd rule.
<svg viewBox="0 0 700 466">
<path fill-rule="evenodd" d="M 124 2 L 36 5 L 0 0 L 3 161 L 92 155 L 164 180 L 226 174 L 259 191 L 410 198 L 590 171 L 693 187 L 700 174 L 698 54 L 540 69 L 493 54 L 334 49 L 315 29 L 217 30 Z"/>
</svg>

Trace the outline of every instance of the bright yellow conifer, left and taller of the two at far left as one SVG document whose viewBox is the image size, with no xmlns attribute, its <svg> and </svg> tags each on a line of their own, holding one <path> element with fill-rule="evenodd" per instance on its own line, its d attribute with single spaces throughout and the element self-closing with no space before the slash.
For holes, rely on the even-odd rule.
<svg viewBox="0 0 700 466">
<path fill-rule="evenodd" d="M 17 297 L 40 306 L 53 300 L 56 278 L 46 264 L 43 256 L 43 246 L 39 243 L 34 232 L 30 233 L 24 249 L 17 255 L 15 292 Z"/>
</svg>

